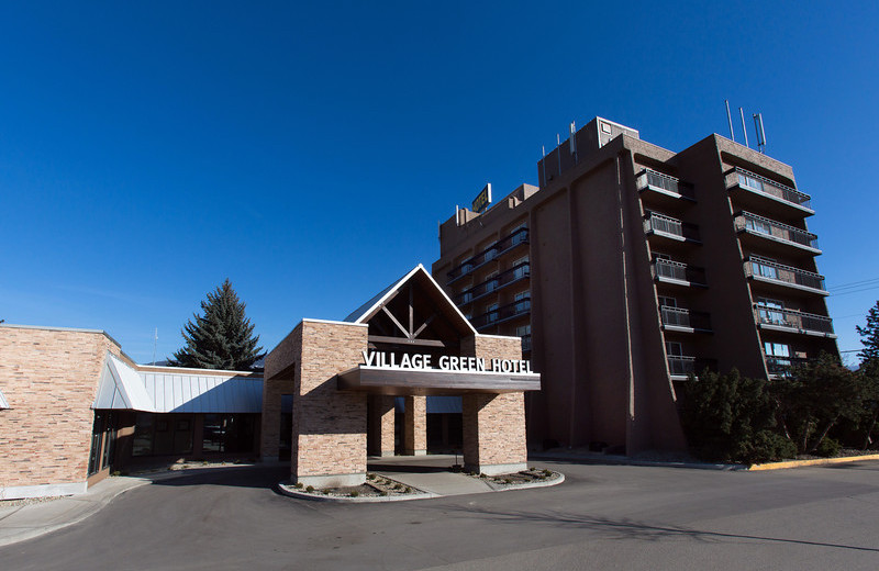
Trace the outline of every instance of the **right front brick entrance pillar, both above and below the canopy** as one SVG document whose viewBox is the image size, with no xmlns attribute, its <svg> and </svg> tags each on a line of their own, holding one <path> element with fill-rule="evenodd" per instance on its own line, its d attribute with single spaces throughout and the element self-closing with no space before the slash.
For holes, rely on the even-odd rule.
<svg viewBox="0 0 879 571">
<path fill-rule="evenodd" d="M 521 359 L 522 342 L 519 337 L 477 335 L 461 339 L 461 355 Z M 463 421 L 466 469 L 493 475 L 527 467 L 523 393 L 465 394 Z"/>
</svg>

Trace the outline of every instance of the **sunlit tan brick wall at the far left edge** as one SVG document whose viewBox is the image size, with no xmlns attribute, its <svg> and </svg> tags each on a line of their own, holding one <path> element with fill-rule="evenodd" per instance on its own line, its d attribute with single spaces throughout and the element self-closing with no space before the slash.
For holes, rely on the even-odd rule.
<svg viewBox="0 0 879 571">
<path fill-rule="evenodd" d="M 0 326 L 0 499 L 85 492 L 108 350 L 121 356 L 102 332 Z"/>
</svg>

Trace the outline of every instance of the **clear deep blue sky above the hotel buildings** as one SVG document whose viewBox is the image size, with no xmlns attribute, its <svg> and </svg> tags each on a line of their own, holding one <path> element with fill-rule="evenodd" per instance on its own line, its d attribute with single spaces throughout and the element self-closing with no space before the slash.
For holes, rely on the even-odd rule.
<svg viewBox="0 0 879 571">
<path fill-rule="evenodd" d="M 4 2 L 0 318 L 145 362 L 230 278 L 270 349 L 430 267 L 455 204 L 536 183 L 571 121 L 681 150 L 728 134 L 728 99 L 812 194 L 858 349 L 878 26 L 875 1 Z"/>
</svg>

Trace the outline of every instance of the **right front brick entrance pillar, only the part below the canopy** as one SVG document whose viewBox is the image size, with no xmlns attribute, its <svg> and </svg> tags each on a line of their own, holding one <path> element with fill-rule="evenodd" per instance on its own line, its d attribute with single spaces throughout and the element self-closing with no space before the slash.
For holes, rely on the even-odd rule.
<svg viewBox="0 0 879 571">
<path fill-rule="evenodd" d="M 465 394 L 461 401 L 464 469 L 488 475 L 527 469 L 524 394 Z"/>
</svg>

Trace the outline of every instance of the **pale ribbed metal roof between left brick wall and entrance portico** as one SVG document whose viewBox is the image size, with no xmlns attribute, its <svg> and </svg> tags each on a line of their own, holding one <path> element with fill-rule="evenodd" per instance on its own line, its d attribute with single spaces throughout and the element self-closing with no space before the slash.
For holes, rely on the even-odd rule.
<svg viewBox="0 0 879 571">
<path fill-rule="evenodd" d="M 263 380 L 235 373 L 137 371 L 108 355 L 93 407 L 155 413 L 260 413 Z"/>
</svg>

